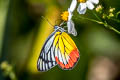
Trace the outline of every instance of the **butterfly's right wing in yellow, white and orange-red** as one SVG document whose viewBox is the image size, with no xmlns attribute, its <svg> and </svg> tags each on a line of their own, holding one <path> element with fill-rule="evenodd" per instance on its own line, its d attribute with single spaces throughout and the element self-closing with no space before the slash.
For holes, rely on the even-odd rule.
<svg viewBox="0 0 120 80">
<path fill-rule="evenodd" d="M 54 40 L 53 46 L 55 46 L 55 60 L 60 68 L 66 70 L 72 69 L 80 56 L 70 36 L 65 32 L 59 32 Z"/>
</svg>

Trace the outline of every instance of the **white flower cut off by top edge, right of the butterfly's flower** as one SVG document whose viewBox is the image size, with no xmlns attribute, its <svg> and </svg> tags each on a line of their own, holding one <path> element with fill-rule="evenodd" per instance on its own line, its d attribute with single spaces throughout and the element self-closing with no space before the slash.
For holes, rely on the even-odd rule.
<svg viewBox="0 0 120 80">
<path fill-rule="evenodd" d="M 78 0 L 80 2 L 77 11 L 79 14 L 85 14 L 87 8 L 90 10 L 94 9 L 94 4 L 98 4 L 99 0 Z"/>
</svg>

